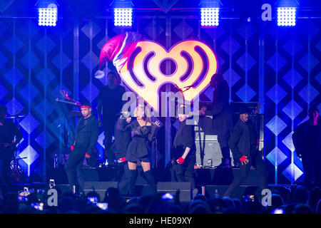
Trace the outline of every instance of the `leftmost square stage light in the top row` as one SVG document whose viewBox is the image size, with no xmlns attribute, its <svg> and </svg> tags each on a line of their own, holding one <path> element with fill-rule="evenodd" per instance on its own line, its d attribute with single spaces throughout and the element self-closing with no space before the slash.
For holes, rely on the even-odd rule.
<svg viewBox="0 0 321 228">
<path fill-rule="evenodd" d="M 39 1 L 38 3 L 38 25 L 56 26 L 58 20 L 58 8 L 56 1 Z"/>
</svg>

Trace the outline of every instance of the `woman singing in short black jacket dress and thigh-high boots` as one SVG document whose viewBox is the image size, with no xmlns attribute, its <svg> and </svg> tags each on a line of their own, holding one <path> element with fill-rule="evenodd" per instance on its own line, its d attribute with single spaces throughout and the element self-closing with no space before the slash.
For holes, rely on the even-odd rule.
<svg viewBox="0 0 321 228">
<path fill-rule="evenodd" d="M 143 167 L 143 172 L 151 185 L 153 194 L 156 194 L 156 182 L 151 172 L 151 161 L 150 161 L 150 147 L 148 142 L 153 140 L 156 129 L 159 127 L 159 121 L 155 123 L 151 122 L 151 118 L 146 117 L 144 113 L 144 108 L 138 106 L 134 111 L 134 117 L 136 120 L 131 121 L 131 117 L 121 118 L 120 129 L 123 131 L 132 132 L 132 140 L 128 145 L 126 160 L 128 161 L 128 186 L 129 194 L 135 194 L 135 183 L 136 183 L 136 173 L 137 173 L 137 162 L 141 161 L 141 166 Z"/>
</svg>

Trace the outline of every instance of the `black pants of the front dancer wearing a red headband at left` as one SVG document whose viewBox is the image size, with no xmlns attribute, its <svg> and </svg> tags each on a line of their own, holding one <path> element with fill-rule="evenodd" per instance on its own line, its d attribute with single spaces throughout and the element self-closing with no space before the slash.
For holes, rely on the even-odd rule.
<svg viewBox="0 0 321 228">
<path fill-rule="evenodd" d="M 73 185 L 76 185 L 76 175 L 81 192 L 85 187 L 85 177 L 83 177 L 83 159 L 85 158 L 86 148 L 74 148 L 68 157 L 65 165 L 65 170 L 68 177 L 69 190 L 73 190 Z"/>
</svg>

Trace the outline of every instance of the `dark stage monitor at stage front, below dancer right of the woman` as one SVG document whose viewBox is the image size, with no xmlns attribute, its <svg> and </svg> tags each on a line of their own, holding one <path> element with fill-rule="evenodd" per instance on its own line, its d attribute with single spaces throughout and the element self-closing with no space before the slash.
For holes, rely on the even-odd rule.
<svg viewBox="0 0 321 228">
<path fill-rule="evenodd" d="M 158 182 L 157 192 L 171 193 L 174 197 L 179 192 L 180 202 L 190 202 L 191 195 L 190 182 Z"/>
</svg>

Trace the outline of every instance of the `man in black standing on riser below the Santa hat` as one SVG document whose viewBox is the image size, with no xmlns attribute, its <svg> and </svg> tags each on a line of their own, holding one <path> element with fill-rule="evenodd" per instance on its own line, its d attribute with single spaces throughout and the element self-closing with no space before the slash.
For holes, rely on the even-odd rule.
<svg viewBox="0 0 321 228">
<path fill-rule="evenodd" d="M 98 123 L 99 126 L 103 126 L 105 139 L 103 144 L 105 145 L 103 160 L 108 160 L 108 165 L 115 165 L 115 155 L 110 150 L 111 140 L 113 138 L 113 130 L 115 128 L 115 123 L 118 119 L 118 113 L 121 112 L 123 107 L 123 93 L 125 93 L 125 88 L 118 85 L 116 73 L 113 71 L 109 72 L 107 75 L 108 85 L 104 86 L 100 93 L 98 94 Z M 103 110 L 103 115 L 101 118 L 101 110 Z"/>
</svg>

